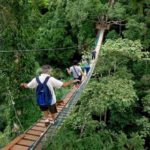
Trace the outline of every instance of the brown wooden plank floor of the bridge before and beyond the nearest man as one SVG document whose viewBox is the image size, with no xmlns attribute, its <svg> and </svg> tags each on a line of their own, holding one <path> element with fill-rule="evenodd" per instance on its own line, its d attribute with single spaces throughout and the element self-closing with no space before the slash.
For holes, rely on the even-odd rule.
<svg viewBox="0 0 150 150">
<path fill-rule="evenodd" d="M 66 107 L 75 91 L 76 88 L 72 88 L 71 91 L 65 96 L 65 98 L 57 104 L 58 113 L 55 120 L 63 108 Z M 50 120 L 52 120 L 52 118 L 50 118 Z M 47 128 L 48 127 L 45 126 L 45 119 L 41 118 L 23 135 L 15 138 L 2 150 L 28 150 L 30 146 L 32 146 L 32 144 L 34 144 L 44 134 Z"/>
</svg>

